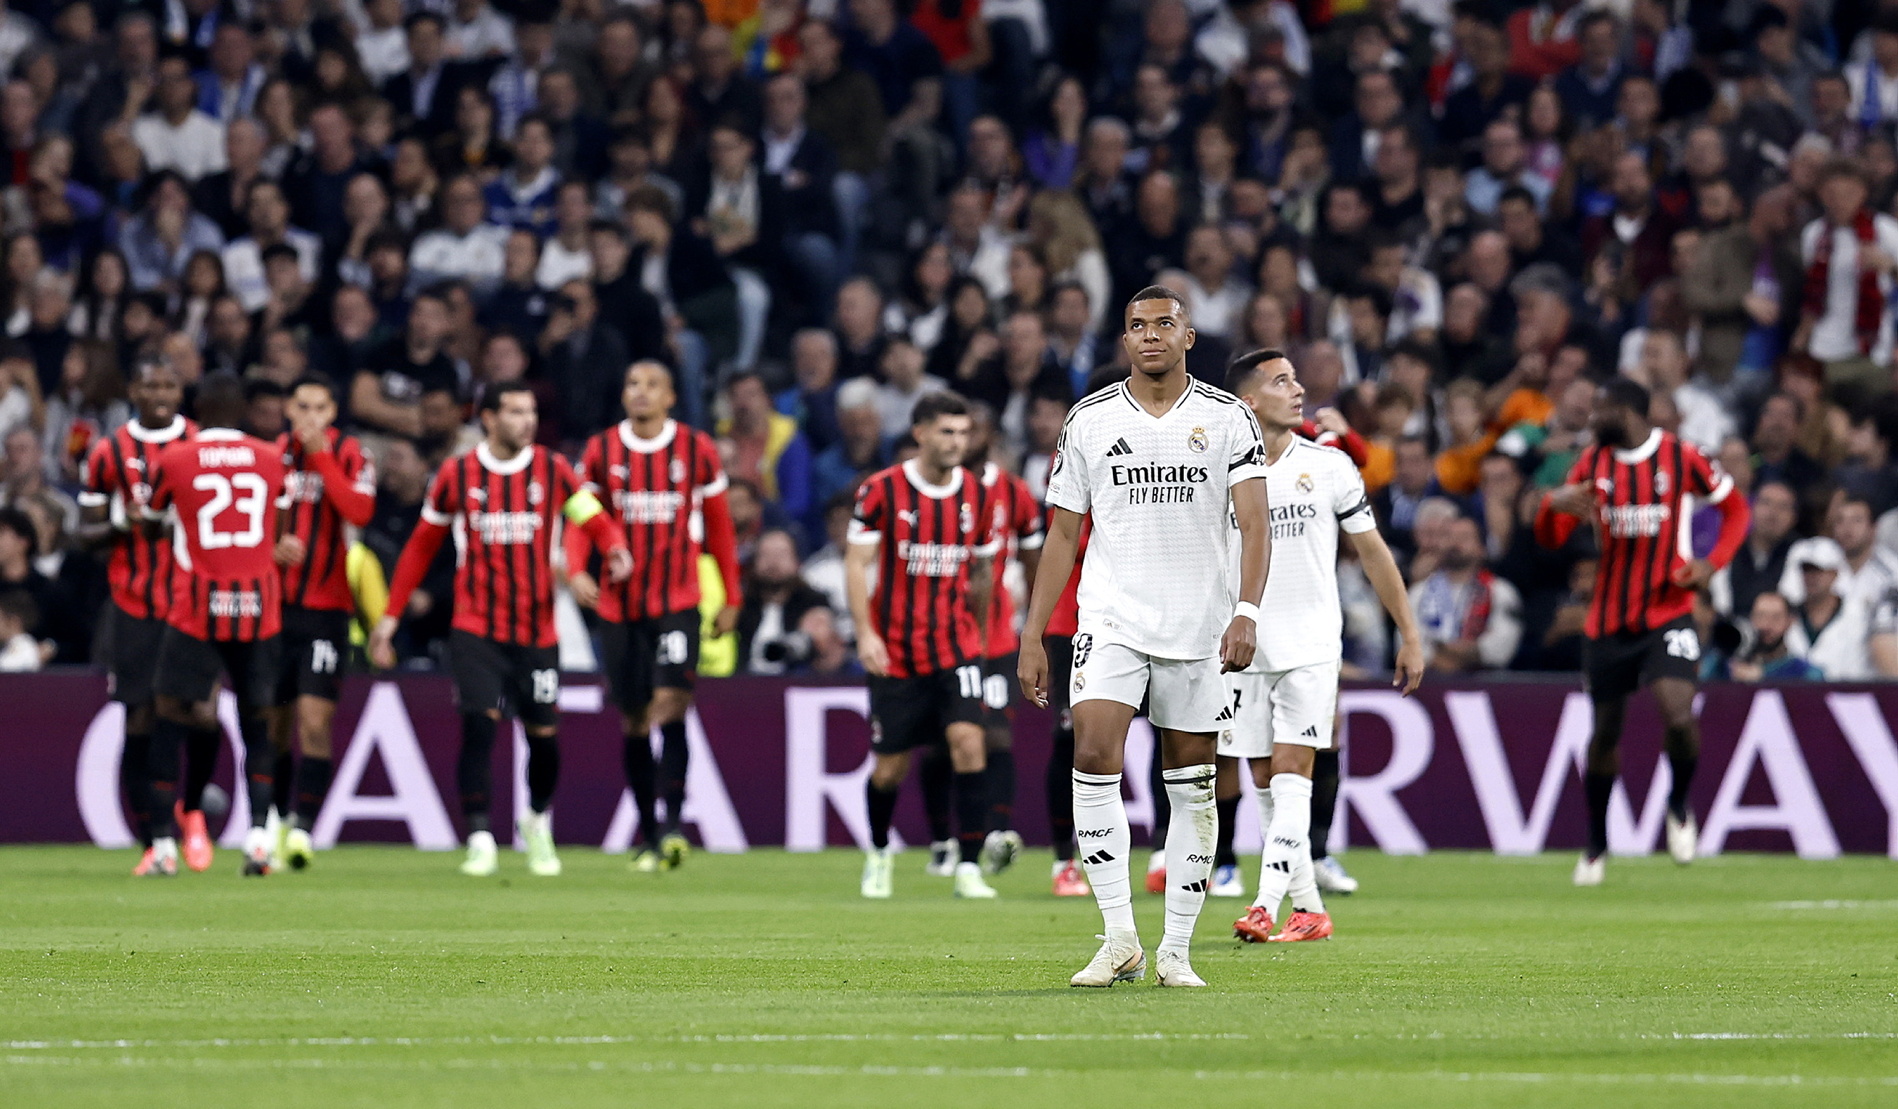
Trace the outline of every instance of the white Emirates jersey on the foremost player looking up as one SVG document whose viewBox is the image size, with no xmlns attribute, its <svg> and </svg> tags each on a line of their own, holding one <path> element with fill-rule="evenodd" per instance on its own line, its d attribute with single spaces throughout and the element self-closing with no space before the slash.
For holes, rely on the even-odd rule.
<svg viewBox="0 0 1898 1109">
<path fill-rule="evenodd" d="M 1080 627 L 1158 659 L 1211 659 L 1232 623 L 1232 486 L 1264 477 L 1243 401 L 1192 382 L 1165 416 L 1127 384 L 1069 412 L 1048 503 L 1093 513 Z"/>
</svg>

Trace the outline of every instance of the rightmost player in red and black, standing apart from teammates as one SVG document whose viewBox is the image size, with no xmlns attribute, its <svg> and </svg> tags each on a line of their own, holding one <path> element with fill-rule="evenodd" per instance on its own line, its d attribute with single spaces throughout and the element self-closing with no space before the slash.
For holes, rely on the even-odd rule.
<svg viewBox="0 0 1898 1109">
<path fill-rule="evenodd" d="M 1691 444 L 1647 420 L 1647 389 L 1615 378 L 1594 393 L 1589 418 L 1594 444 L 1581 452 L 1568 484 L 1543 496 L 1535 539 L 1560 547 L 1581 520 L 1594 524 L 1602 568 L 1583 625 L 1581 668 L 1594 703 L 1594 735 L 1583 790 L 1589 798 L 1589 849 L 1575 862 L 1575 885 L 1602 885 L 1608 856 L 1608 799 L 1621 773 L 1621 725 L 1628 697 L 1642 686 L 1661 708 L 1672 784 L 1666 847 L 1674 862 L 1693 862 L 1699 828 L 1687 807 L 1701 725 L 1693 716 L 1701 638 L 1693 594 L 1746 541 L 1752 511 L 1733 496 L 1733 479 Z M 1720 539 L 1693 556 L 1693 503 L 1720 509 Z"/>
</svg>

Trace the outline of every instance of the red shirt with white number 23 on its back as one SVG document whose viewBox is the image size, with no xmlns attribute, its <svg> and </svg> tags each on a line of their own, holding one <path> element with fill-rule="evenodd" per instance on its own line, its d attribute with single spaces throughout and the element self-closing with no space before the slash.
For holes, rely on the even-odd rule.
<svg viewBox="0 0 1898 1109">
<path fill-rule="evenodd" d="M 178 570 L 165 619 L 199 640 L 268 640 L 283 627 L 277 511 L 283 454 L 213 427 L 158 454 L 152 513 L 177 509 Z"/>
</svg>

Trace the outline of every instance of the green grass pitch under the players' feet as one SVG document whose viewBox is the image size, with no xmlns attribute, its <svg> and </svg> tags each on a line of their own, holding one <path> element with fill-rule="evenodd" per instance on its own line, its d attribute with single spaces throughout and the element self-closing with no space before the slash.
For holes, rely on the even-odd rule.
<svg viewBox="0 0 1898 1109">
<path fill-rule="evenodd" d="M 1898 1105 L 1883 858 L 1577 891 L 1568 856 L 1357 853 L 1329 944 L 1241 948 L 1211 902 L 1203 991 L 1069 989 L 1099 915 L 1046 855 L 995 904 L 921 853 L 884 904 L 843 851 L 564 860 L 140 883 L 129 853 L 0 851 L 0 1105 Z"/>
</svg>

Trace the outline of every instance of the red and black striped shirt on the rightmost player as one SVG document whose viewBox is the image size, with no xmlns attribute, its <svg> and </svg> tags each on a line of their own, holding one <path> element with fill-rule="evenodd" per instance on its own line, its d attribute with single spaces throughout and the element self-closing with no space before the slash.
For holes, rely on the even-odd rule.
<svg viewBox="0 0 1898 1109">
<path fill-rule="evenodd" d="M 1583 450 L 1568 480 L 1594 486 L 1594 534 L 1602 547 L 1585 632 L 1592 638 L 1644 632 L 1693 611 L 1693 591 L 1672 577 L 1693 560 L 1687 498 L 1718 505 L 1733 492 L 1733 479 L 1657 427 L 1634 450 Z"/>
</svg>

